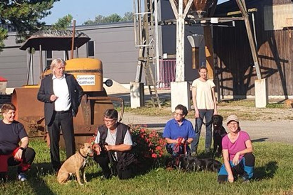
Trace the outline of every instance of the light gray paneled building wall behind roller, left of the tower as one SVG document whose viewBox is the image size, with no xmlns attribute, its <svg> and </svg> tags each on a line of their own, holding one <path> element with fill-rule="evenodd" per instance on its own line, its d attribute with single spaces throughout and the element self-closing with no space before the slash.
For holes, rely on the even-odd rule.
<svg viewBox="0 0 293 195">
<path fill-rule="evenodd" d="M 95 56 L 103 62 L 105 78 L 119 83 L 134 81 L 138 50 L 134 47 L 133 23 L 116 23 L 93 26 L 77 26 L 76 30 L 87 34 L 94 41 Z M 4 41 L 5 48 L 0 53 L 0 75 L 8 80 L 7 87 L 21 87 L 26 84 L 28 74 L 29 49 L 22 51 L 21 44 L 15 43 L 14 32 L 8 33 Z M 14 47 L 14 48 L 10 48 Z M 70 51 L 69 57 L 70 57 Z M 87 44 L 78 49 L 79 58 L 87 58 Z M 74 58 L 76 58 L 76 51 Z M 64 51 L 52 51 L 52 59 L 66 58 Z M 40 83 L 40 52 L 32 55 L 33 76 L 29 75 L 29 84 Z M 42 51 L 43 70 L 46 64 L 46 51 Z M 143 80 L 144 81 L 144 80 Z"/>
</svg>

